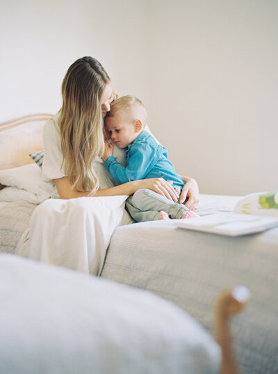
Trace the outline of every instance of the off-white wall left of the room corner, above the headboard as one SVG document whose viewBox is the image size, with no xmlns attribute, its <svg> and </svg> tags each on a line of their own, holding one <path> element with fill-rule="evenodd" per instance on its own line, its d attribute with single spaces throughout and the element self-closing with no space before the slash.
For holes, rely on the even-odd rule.
<svg viewBox="0 0 278 374">
<path fill-rule="evenodd" d="M 0 122 L 56 113 L 65 72 L 82 56 L 98 58 L 116 90 L 144 96 L 145 14 L 129 0 L 2 0 Z"/>
</svg>

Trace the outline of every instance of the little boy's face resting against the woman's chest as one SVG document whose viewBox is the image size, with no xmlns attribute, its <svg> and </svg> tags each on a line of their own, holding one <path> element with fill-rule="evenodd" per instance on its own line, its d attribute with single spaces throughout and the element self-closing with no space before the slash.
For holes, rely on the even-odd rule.
<svg viewBox="0 0 278 374">
<path fill-rule="evenodd" d="M 111 140 L 119 148 L 126 148 L 138 137 L 135 124 L 124 110 L 119 111 L 114 117 L 106 117 L 105 127 L 111 134 Z"/>
</svg>

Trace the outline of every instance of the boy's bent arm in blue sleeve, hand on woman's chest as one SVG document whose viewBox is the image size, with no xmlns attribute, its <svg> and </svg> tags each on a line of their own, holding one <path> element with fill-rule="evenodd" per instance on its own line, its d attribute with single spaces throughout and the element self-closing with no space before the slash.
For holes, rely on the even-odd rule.
<svg viewBox="0 0 278 374">
<path fill-rule="evenodd" d="M 118 163 L 113 156 L 104 161 L 104 166 L 111 173 L 115 181 L 123 184 L 129 181 L 144 179 L 149 172 L 149 167 L 156 161 L 155 149 L 147 143 L 138 143 L 129 150 L 129 160 L 126 168 Z"/>
</svg>

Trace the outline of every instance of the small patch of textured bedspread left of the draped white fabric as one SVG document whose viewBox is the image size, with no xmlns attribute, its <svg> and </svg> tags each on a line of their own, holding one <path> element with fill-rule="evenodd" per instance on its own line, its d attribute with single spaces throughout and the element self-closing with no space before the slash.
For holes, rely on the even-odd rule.
<svg viewBox="0 0 278 374">
<path fill-rule="evenodd" d="M 28 227 L 36 204 L 18 201 L 0 205 L 0 252 L 15 253 L 28 236 Z"/>
</svg>

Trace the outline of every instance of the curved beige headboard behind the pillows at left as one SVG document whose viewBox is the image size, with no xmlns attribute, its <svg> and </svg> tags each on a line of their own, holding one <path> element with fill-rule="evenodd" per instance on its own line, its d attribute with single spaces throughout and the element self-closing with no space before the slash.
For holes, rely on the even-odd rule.
<svg viewBox="0 0 278 374">
<path fill-rule="evenodd" d="M 42 130 L 52 114 L 34 114 L 0 124 L 0 170 L 33 162 L 31 152 L 43 149 Z"/>
</svg>

